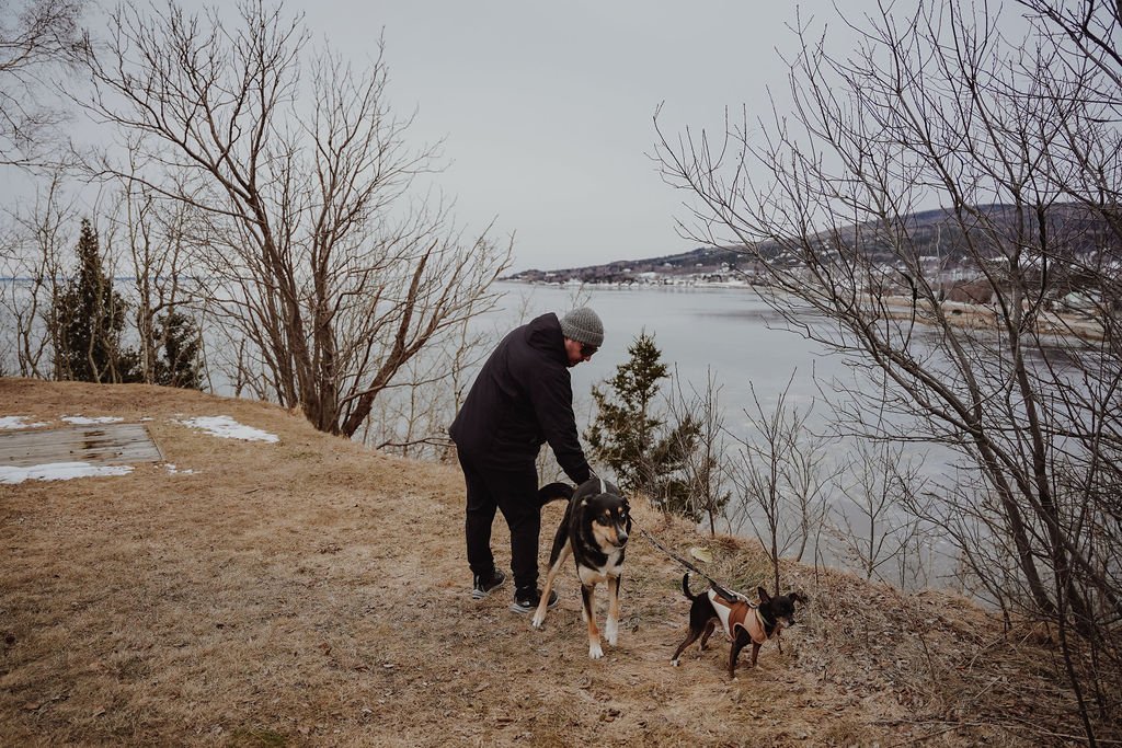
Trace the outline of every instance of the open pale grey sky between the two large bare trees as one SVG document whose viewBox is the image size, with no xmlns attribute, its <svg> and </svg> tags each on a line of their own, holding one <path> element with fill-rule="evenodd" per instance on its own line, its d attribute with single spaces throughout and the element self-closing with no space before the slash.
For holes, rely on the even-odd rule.
<svg viewBox="0 0 1122 748">
<path fill-rule="evenodd" d="M 839 27 L 833 6 L 818 25 Z M 867 0 L 850 0 L 854 9 Z M 646 156 L 664 130 L 720 124 L 785 91 L 776 46 L 795 8 L 745 0 L 300 0 L 309 27 L 351 59 L 381 29 L 390 100 L 413 135 L 445 137 L 439 178 L 470 228 L 497 218 L 515 269 L 563 268 L 692 249 L 683 197 Z M 847 11 L 849 12 L 849 11 Z M 806 13 L 806 11 L 804 11 Z"/>
</svg>

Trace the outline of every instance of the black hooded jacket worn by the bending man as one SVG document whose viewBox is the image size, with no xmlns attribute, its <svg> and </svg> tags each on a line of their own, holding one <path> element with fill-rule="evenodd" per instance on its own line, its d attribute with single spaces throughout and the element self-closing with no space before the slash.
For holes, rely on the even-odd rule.
<svg viewBox="0 0 1122 748">
<path fill-rule="evenodd" d="M 449 428 L 460 453 L 482 468 L 521 469 L 549 442 L 574 483 L 588 480 L 568 363 L 555 314 L 515 327 L 480 369 Z"/>
</svg>

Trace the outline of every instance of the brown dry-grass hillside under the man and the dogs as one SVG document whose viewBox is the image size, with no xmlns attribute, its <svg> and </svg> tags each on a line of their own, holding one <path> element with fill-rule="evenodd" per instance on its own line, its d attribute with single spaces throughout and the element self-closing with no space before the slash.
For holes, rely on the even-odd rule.
<svg viewBox="0 0 1122 748">
<path fill-rule="evenodd" d="M 682 569 L 636 534 L 619 646 L 591 662 L 571 574 L 540 631 L 507 610 L 509 585 L 470 598 L 453 467 L 183 390 L 0 379 L 0 417 L 53 427 L 75 414 L 148 419 L 166 460 L 0 484 L 0 745 L 1013 746 L 1080 735 L 1046 634 L 1003 632 L 953 595 L 787 566 L 784 587 L 811 602 L 783 654 L 769 643 L 755 669 L 742 656 L 730 682 L 718 637 L 669 665 L 686 630 Z M 217 415 L 279 441 L 182 423 Z M 548 507 L 543 536 L 561 509 Z M 764 576 L 747 542 L 708 541 L 638 500 L 635 518 L 682 554 L 710 546 L 712 573 L 739 589 Z M 502 521 L 494 543 L 505 565 Z"/>
</svg>

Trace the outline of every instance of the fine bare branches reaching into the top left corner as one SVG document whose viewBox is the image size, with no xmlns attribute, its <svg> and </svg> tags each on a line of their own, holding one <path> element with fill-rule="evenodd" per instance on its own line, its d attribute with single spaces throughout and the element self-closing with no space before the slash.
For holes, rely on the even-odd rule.
<svg viewBox="0 0 1122 748">
<path fill-rule="evenodd" d="M 49 102 L 50 74 L 84 48 L 84 0 L 0 0 L 0 164 L 28 165 L 62 118 Z"/>
</svg>

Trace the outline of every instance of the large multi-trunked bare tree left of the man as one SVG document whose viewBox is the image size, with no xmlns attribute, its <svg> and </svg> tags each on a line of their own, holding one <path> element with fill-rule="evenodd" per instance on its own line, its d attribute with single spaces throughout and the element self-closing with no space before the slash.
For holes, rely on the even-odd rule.
<svg viewBox="0 0 1122 748">
<path fill-rule="evenodd" d="M 408 149 L 378 49 L 357 70 L 258 0 L 234 20 L 169 2 L 120 7 L 86 59 L 85 107 L 144 159 L 95 170 L 196 211 L 193 259 L 239 387 L 344 435 L 411 359 L 493 305 L 509 261 L 486 231 L 457 231 L 449 205 L 411 197 L 438 153 Z"/>
</svg>

